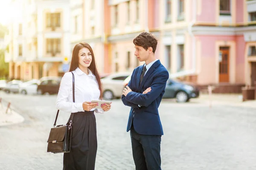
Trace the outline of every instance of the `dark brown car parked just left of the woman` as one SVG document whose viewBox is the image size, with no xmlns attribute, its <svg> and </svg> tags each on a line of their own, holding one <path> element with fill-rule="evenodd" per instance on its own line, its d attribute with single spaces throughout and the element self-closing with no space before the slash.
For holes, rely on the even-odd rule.
<svg viewBox="0 0 256 170">
<path fill-rule="evenodd" d="M 38 94 L 58 94 L 61 77 L 42 77 L 39 81 Z"/>
</svg>

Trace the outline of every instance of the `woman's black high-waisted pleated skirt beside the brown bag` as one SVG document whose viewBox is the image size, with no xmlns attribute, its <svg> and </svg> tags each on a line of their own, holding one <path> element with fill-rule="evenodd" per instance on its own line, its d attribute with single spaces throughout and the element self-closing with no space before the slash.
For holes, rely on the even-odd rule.
<svg viewBox="0 0 256 170">
<path fill-rule="evenodd" d="M 64 153 L 63 170 L 94 170 L 97 152 L 94 111 L 74 114 L 70 153 Z M 68 122 L 70 119 L 68 120 Z"/>
</svg>

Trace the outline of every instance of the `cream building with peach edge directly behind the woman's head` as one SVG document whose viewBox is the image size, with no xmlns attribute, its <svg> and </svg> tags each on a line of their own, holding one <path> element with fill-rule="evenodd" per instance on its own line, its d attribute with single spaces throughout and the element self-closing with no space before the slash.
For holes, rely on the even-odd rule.
<svg viewBox="0 0 256 170">
<path fill-rule="evenodd" d="M 71 52 L 79 42 L 93 48 L 99 72 L 109 72 L 108 58 L 108 0 L 71 0 Z"/>
</svg>

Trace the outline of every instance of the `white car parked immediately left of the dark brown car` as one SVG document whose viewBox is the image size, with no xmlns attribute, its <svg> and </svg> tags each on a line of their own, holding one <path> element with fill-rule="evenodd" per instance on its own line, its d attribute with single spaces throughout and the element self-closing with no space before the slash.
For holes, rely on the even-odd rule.
<svg viewBox="0 0 256 170">
<path fill-rule="evenodd" d="M 37 94 L 38 79 L 32 79 L 20 84 L 19 92 L 21 94 Z"/>
</svg>

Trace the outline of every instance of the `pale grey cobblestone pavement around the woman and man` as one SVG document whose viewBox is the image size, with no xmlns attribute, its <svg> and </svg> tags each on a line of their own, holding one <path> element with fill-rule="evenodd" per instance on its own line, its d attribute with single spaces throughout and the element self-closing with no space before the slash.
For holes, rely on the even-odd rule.
<svg viewBox="0 0 256 170">
<path fill-rule="evenodd" d="M 62 154 L 47 153 L 47 138 L 55 119 L 56 95 L 4 94 L 25 121 L 0 126 L 0 170 L 61 170 Z M 160 105 L 164 135 L 162 170 L 255 170 L 255 108 L 191 100 Z M 129 108 L 113 100 L 111 111 L 96 114 L 98 151 L 96 170 L 134 170 L 129 133 Z M 60 112 L 58 124 L 70 113 Z M 1 118 L 1 117 L 0 117 Z"/>
</svg>

